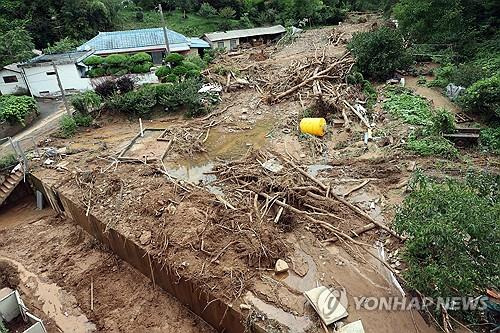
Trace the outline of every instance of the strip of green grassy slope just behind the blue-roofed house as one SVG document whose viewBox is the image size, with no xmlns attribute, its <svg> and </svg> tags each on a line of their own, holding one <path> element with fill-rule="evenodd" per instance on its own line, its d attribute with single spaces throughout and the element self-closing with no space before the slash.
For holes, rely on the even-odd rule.
<svg viewBox="0 0 500 333">
<path fill-rule="evenodd" d="M 195 13 L 187 13 L 183 17 L 181 11 L 171 11 L 165 13 L 167 27 L 185 36 L 201 36 L 208 32 L 218 31 L 222 24 L 227 24 L 227 19 L 220 17 L 203 17 Z M 136 11 L 121 10 L 119 13 L 120 24 L 117 28 L 122 30 L 146 29 L 161 27 L 161 17 L 156 11 L 144 11 L 144 18 L 139 21 Z M 236 26 L 237 20 L 229 20 L 229 24 Z"/>
</svg>

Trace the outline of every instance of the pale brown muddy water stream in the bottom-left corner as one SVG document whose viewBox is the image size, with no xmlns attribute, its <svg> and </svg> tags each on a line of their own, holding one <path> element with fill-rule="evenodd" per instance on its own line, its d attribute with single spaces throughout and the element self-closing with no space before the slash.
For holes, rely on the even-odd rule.
<svg viewBox="0 0 500 333">
<path fill-rule="evenodd" d="M 36 274 L 28 271 L 23 264 L 7 257 L 0 256 L 14 265 L 20 275 L 26 294 L 33 294 L 42 304 L 42 311 L 54 320 L 57 327 L 65 333 L 88 333 L 96 330 L 95 325 L 80 312 L 76 299 L 68 295 L 55 283 L 43 282 Z"/>
</svg>

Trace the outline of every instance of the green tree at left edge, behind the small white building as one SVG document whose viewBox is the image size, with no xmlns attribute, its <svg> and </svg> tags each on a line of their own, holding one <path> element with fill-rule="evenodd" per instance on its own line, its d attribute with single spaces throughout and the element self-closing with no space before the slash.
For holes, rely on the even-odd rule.
<svg viewBox="0 0 500 333">
<path fill-rule="evenodd" d="M 24 29 L 17 28 L 0 34 L 0 66 L 32 58 L 34 48 L 31 35 Z"/>
</svg>

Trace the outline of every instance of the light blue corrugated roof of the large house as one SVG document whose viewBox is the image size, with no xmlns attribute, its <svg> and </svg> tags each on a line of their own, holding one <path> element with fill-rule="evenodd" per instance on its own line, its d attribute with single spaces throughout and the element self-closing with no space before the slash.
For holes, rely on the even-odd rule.
<svg viewBox="0 0 500 333">
<path fill-rule="evenodd" d="M 189 38 L 167 29 L 168 41 L 176 49 L 189 49 Z M 162 28 L 100 32 L 97 36 L 78 47 L 78 50 L 99 51 L 135 49 L 165 45 Z M 182 46 L 182 47 L 181 47 Z M 209 47 L 207 44 L 203 47 Z"/>
</svg>

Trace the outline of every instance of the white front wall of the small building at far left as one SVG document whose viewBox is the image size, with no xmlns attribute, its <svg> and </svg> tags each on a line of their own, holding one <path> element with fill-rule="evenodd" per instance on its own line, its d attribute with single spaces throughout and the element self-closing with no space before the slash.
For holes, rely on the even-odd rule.
<svg viewBox="0 0 500 333">
<path fill-rule="evenodd" d="M 57 65 L 61 84 L 65 91 L 84 91 L 92 89 L 90 79 L 80 77 L 80 72 L 75 64 Z M 37 97 L 59 95 L 59 85 L 52 65 L 25 68 L 26 78 L 33 95 Z"/>
</svg>

